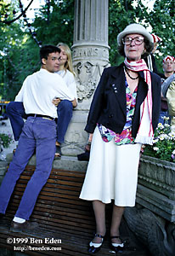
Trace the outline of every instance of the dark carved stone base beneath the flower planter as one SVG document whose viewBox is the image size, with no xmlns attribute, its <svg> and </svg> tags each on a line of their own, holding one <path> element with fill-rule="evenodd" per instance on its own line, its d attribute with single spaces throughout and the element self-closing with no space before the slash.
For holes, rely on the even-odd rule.
<svg viewBox="0 0 175 256">
<path fill-rule="evenodd" d="M 155 215 L 146 208 L 127 207 L 127 224 L 153 256 L 175 255 L 175 224 Z"/>
</svg>

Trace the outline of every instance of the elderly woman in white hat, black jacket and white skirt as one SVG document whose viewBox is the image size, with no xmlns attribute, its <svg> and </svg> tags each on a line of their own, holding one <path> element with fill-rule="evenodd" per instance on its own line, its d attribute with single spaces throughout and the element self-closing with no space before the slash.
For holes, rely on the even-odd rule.
<svg viewBox="0 0 175 256">
<path fill-rule="evenodd" d="M 124 207 L 134 207 L 142 144 L 152 144 L 159 119 L 161 79 L 144 60 L 153 38 L 144 26 L 131 24 L 117 37 L 125 61 L 104 69 L 94 93 L 85 130 L 93 133 L 90 160 L 80 198 L 93 201 L 96 234 L 88 252 L 102 246 L 105 204 L 114 201 L 110 247 L 122 251 L 119 227 Z"/>
</svg>

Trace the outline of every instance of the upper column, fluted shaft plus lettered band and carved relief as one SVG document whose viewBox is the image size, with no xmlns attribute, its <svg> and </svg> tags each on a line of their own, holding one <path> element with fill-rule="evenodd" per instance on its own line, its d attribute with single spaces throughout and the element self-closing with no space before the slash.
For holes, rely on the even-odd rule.
<svg viewBox="0 0 175 256">
<path fill-rule="evenodd" d="M 104 67 L 109 66 L 108 0 L 75 1 L 72 58 L 78 100 L 83 102 L 93 96 Z"/>
</svg>

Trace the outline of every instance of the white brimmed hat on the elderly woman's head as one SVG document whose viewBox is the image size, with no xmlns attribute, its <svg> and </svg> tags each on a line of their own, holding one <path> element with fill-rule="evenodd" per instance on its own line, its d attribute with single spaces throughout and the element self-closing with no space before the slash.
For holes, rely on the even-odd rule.
<svg viewBox="0 0 175 256">
<path fill-rule="evenodd" d="M 153 37 L 151 36 L 150 32 L 148 32 L 144 26 L 137 24 L 137 23 L 133 23 L 130 24 L 128 26 L 126 26 L 126 28 L 120 32 L 117 36 L 117 44 L 121 45 L 122 44 L 122 38 L 124 38 L 125 36 L 127 36 L 128 34 L 140 34 L 143 35 L 144 38 L 147 38 L 150 43 L 154 43 L 153 41 Z"/>
</svg>

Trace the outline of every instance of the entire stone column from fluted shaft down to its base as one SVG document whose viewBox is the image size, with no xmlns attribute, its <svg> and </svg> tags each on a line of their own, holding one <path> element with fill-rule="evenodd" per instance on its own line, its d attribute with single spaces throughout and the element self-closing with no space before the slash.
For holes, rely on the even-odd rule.
<svg viewBox="0 0 175 256">
<path fill-rule="evenodd" d="M 90 103 L 104 67 L 109 64 L 108 0 L 76 0 L 73 67 L 76 73 L 78 106 L 65 136 L 63 154 L 81 154 L 88 142 L 84 131 Z"/>
</svg>

